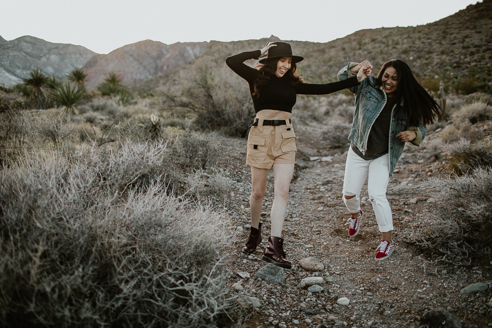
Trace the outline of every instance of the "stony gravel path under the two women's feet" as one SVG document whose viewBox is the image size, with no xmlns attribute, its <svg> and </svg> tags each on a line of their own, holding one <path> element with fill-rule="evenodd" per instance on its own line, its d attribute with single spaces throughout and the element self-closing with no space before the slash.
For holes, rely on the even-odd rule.
<svg viewBox="0 0 492 328">
<path fill-rule="evenodd" d="M 267 266 L 261 256 L 270 231 L 273 175 L 269 173 L 261 218 L 263 242 L 255 254 L 245 256 L 240 251 L 251 223 L 245 141 L 223 141 L 230 154 L 224 169 L 235 181 L 223 204 L 231 215 L 232 229 L 236 230 L 228 250 L 231 261 L 227 283 L 231 296 L 259 300 L 246 326 L 423 327 L 424 313 L 437 308 L 456 316 L 465 327 L 492 326 L 492 258 L 489 265 L 480 267 L 437 265 L 430 260 L 432 254 L 422 254 L 408 242 L 412 228 L 423 224 L 419 216 L 429 210 L 427 202 L 432 201 L 426 194 L 425 180 L 439 175 L 445 168 L 444 162 L 429 159 L 425 147 L 409 146 L 405 150 L 387 192 L 394 216 L 396 250 L 390 258 L 379 262 L 374 256 L 381 235 L 367 202 L 366 189 L 361 194 L 361 233 L 348 238 L 348 215 L 341 200 L 346 150 L 320 146 L 315 135 L 302 130 L 297 134 L 302 152 L 298 152 L 296 159 L 299 170 L 291 183 L 283 233 L 293 269 L 280 270 L 279 277 L 284 280 L 277 283 L 255 277 Z M 432 138 L 431 134 L 424 142 Z M 317 269 L 303 269 L 299 263 L 306 258 L 318 264 Z M 309 282 L 303 286 L 303 279 L 316 277 L 322 279 L 315 284 L 319 287 L 308 290 Z M 487 284 L 488 289 L 472 294 L 460 292 L 478 282 Z M 337 303 L 342 298 L 349 303 Z"/>
</svg>

